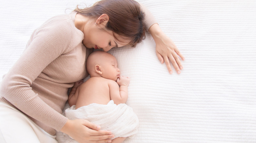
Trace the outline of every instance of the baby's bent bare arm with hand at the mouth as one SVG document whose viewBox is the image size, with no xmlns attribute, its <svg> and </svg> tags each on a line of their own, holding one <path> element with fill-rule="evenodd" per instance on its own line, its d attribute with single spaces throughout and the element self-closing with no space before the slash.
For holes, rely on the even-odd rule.
<svg viewBox="0 0 256 143">
<path fill-rule="evenodd" d="M 129 83 L 129 77 L 120 76 L 117 82 L 113 82 L 113 84 L 110 85 L 110 98 L 115 104 L 126 103 Z"/>
</svg>

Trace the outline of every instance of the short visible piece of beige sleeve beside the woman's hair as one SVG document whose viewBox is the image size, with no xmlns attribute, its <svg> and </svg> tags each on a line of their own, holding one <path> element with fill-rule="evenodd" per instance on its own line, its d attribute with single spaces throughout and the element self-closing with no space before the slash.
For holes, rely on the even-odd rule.
<svg viewBox="0 0 256 143">
<path fill-rule="evenodd" d="M 148 31 L 148 29 L 153 25 L 156 24 L 157 21 L 155 19 L 155 17 L 152 15 L 152 13 L 141 3 L 140 4 L 140 8 L 142 9 L 142 11 L 145 13 L 145 18 L 143 20 L 143 22 L 146 25 L 146 30 Z"/>
</svg>

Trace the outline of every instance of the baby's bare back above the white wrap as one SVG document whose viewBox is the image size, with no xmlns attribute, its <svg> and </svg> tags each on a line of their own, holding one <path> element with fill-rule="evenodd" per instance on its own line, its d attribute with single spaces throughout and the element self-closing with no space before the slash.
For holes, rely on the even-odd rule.
<svg viewBox="0 0 256 143">
<path fill-rule="evenodd" d="M 109 84 L 112 80 L 103 77 L 91 77 L 76 90 L 78 94 L 76 109 L 91 103 L 107 104 L 110 101 Z"/>
</svg>

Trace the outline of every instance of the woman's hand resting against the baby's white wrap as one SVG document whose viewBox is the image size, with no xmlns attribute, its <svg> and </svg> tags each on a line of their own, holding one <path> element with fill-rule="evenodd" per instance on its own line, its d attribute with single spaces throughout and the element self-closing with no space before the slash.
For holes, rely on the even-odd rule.
<svg viewBox="0 0 256 143">
<path fill-rule="evenodd" d="M 79 143 L 107 143 L 114 135 L 110 131 L 99 130 L 100 126 L 84 119 L 69 120 L 60 130 Z"/>
</svg>

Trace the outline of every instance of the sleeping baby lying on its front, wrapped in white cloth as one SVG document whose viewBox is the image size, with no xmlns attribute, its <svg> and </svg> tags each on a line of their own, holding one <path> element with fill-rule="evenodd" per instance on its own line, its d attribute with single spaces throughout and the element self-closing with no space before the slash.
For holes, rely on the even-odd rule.
<svg viewBox="0 0 256 143">
<path fill-rule="evenodd" d="M 112 143 L 121 143 L 137 133 L 139 119 L 126 105 L 130 79 L 120 76 L 117 59 L 103 51 L 88 56 L 86 69 L 90 78 L 78 81 L 69 94 L 70 108 L 65 116 L 69 119 L 86 119 L 100 125 L 101 130 L 115 135 Z M 66 142 L 76 142 L 65 135 Z"/>
</svg>

